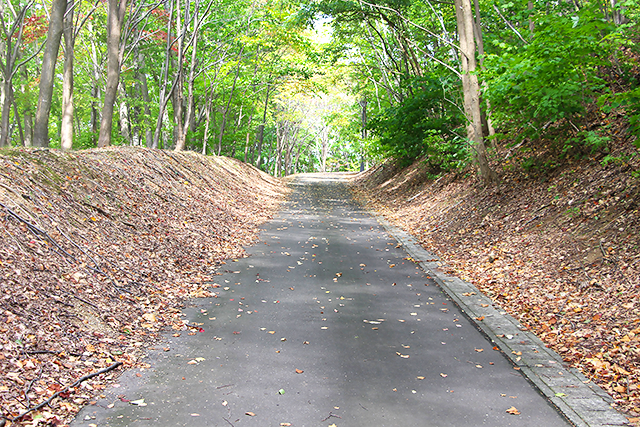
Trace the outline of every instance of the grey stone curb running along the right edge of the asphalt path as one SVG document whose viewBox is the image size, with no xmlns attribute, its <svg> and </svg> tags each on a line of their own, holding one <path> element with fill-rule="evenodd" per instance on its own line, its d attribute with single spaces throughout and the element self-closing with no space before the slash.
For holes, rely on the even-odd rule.
<svg viewBox="0 0 640 427">
<path fill-rule="evenodd" d="M 471 283 L 440 271 L 440 259 L 408 233 L 371 212 L 406 251 L 460 307 L 476 327 L 497 345 L 520 372 L 578 427 L 629 426 L 614 409 L 613 399 L 580 371 L 565 367 L 562 358 L 524 328 Z"/>
</svg>

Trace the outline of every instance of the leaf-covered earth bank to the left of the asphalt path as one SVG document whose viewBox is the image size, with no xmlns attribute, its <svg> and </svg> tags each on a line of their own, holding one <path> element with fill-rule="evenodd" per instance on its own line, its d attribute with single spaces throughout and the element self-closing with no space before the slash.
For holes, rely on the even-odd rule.
<svg viewBox="0 0 640 427">
<path fill-rule="evenodd" d="M 0 171 L 0 425 L 60 390 L 18 424 L 63 425 L 115 372 L 67 385 L 140 366 L 163 328 L 197 334 L 182 301 L 213 295 L 288 191 L 232 159 L 134 148 L 5 150 Z"/>
</svg>

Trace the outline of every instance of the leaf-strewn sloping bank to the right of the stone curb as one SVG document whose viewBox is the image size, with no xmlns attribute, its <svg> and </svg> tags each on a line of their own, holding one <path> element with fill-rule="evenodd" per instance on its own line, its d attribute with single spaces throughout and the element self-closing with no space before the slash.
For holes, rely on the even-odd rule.
<svg viewBox="0 0 640 427">
<path fill-rule="evenodd" d="M 430 180 L 420 161 L 381 165 L 354 188 L 636 418 L 640 182 L 631 171 L 640 165 L 625 157 L 631 144 L 618 150 L 615 165 L 592 158 L 529 171 L 503 150 L 499 188 L 455 174 Z"/>
</svg>

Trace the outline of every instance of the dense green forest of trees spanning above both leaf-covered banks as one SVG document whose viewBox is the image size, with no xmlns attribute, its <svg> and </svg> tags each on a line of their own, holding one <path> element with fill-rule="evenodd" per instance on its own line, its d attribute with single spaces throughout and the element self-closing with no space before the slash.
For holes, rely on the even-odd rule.
<svg viewBox="0 0 640 427">
<path fill-rule="evenodd" d="M 602 117 L 640 129 L 639 6 L 2 0 L 0 147 L 193 150 L 277 176 L 425 157 L 485 182 L 504 135 L 624 161 Z"/>
</svg>

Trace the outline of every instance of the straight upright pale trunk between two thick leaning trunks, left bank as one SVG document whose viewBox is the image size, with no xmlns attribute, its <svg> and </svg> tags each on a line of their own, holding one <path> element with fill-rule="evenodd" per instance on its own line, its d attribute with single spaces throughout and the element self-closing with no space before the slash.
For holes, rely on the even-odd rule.
<svg viewBox="0 0 640 427">
<path fill-rule="evenodd" d="M 63 150 L 73 148 L 73 9 L 64 18 L 64 72 L 62 80 L 62 123 L 60 125 L 60 145 Z"/>
</svg>

